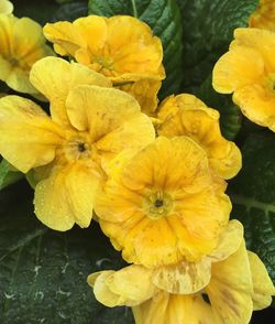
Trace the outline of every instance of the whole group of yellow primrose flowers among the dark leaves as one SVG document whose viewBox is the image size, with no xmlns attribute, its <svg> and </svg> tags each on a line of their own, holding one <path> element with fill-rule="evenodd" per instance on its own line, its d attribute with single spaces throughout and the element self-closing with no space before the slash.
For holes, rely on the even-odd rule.
<svg viewBox="0 0 275 324">
<path fill-rule="evenodd" d="M 51 105 L 50 117 L 30 99 L 0 99 L 0 153 L 26 173 L 38 219 L 68 230 L 88 227 L 95 210 L 132 264 L 88 283 L 105 305 L 131 306 L 136 323 L 249 323 L 275 290 L 242 225 L 229 220 L 226 180 L 241 153 L 222 137 L 219 112 L 188 94 L 158 105 L 162 43 L 138 19 L 89 15 L 43 31 L 72 62 L 54 56 L 35 22 L 0 14 L 0 78 Z M 213 71 L 215 88 L 234 91 L 271 129 L 274 42 L 237 30 Z"/>
</svg>

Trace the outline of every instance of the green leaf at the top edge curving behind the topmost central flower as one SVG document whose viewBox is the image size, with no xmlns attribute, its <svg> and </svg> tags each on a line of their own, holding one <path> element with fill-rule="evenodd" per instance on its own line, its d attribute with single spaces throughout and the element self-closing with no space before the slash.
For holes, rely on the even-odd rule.
<svg viewBox="0 0 275 324">
<path fill-rule="evenodd" d="M 147 23 L 161 37 L 164 48 L 166 79 L 160 97 L 164 98 L 180 90 L 183 80 L 183 26 L 176 0 L 90 0 L 89 13 L 111 17 L 129 14 Z"/>
</svg>

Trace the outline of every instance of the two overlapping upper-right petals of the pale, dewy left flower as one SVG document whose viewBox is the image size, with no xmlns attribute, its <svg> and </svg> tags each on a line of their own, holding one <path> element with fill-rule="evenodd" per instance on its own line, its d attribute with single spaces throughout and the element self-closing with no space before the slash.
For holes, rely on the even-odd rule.
<svg viewBox="0 0 275 324">
<path fill-rule="evenodd" d="M 123 91 L 79 86 L 70 91 L 66 106 L 72 125 L 89 131 L 102 154 L 140 149 L 154 140 L 152 122 L 140 112 L 138 101 Z"/>
</svg>

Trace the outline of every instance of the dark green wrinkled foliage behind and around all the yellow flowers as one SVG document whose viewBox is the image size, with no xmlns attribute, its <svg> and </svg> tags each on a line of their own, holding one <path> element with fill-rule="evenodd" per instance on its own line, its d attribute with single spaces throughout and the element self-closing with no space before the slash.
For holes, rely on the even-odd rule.
<svg viewBox="0 0 275 324">
<path fill-rule="evenodd" d="M 211 71 L 245 26 L 256 0 L 18 0 L 18 17 L 41 24 L 91 14 L 138 17 L 162 39 L 167 77 L 160 98 L 193 93 L 221 115 L 221 130 L 242 150 L 243 169 L 229 182 L 231 218 L 245 227 L 248 248 L 258 253 L 275 282 L 275 136 L 252 125 L 232 104 L 215 93 Z M 133 323 L 130 309 L 98 303 L 87 276 L 120 269 L 124 262 L 100 233 L 88 229 L 57 233 L 33 214 L 33 192 L 22 174 L 0 163 L 0 323 L 123 324 Z M 12 184 L 12 185 L 11 185 Z M 9 186 L 9 187 L 8 187 Z M 271 311 L 264 311 L 267 314 Z M 263 323 L 256 312 L 252 323 Z M 261 317 L 262 316 L 262 317 Z"/>
</svg>

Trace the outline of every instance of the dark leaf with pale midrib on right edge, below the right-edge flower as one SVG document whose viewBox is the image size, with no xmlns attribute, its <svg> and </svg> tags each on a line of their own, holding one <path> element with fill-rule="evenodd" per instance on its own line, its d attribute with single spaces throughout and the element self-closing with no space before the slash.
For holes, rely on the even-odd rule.
<svg viewBox="0 0 275 324">
<path fill-rule="evenodd" d="M 258 255 L 275 282 L 274 134 L 252 134 L 242 153 L 243 169 L 229 185 L 232 218 L 243 223 L 248 248 Z"/>
</svg>

